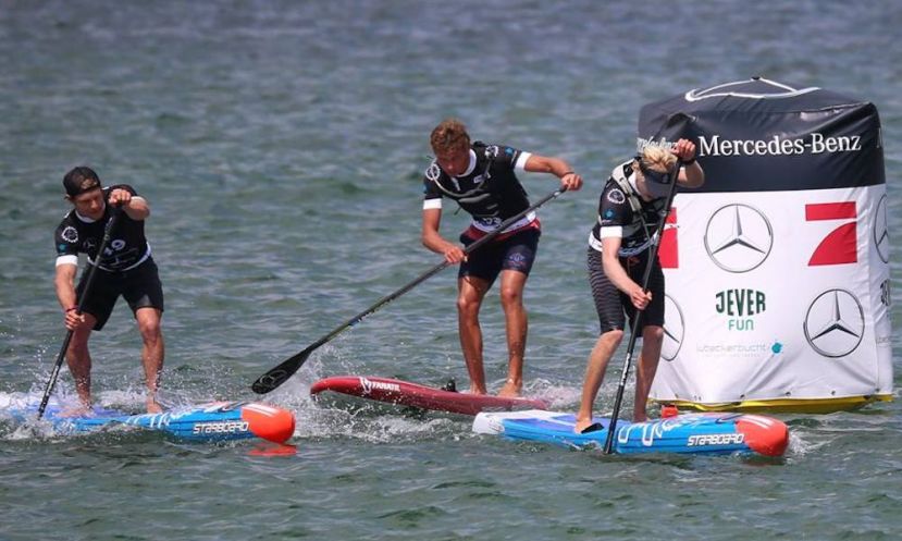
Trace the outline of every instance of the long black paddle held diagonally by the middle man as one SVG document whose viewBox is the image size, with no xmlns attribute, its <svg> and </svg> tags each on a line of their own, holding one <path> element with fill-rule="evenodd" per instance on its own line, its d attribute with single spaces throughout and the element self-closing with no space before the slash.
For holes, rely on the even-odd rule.
<svg viewBox="0 0 902 541">
<path fill-rule="evenodd" d="M 542 205 L 546 204 L 551 199 L 554 199 L 555 197 L 559 196 L 560 194 L 566 192 L 566 189 L 567 188 L 563 188 L 563 187 L 558 188 L 558 189 L 554 190 L 553 193 L 546 195 L 545 197 L 543 197 L 539 201 L 536 201 L 530 208 L 523 210 L 522 212 L 520 212 L 516 216 L 512 216 L 512 217 L 508 218 L 507 220 L 502 222 L 501 225 L 497 226 L 497 229 L 495 229 L 491 233 L 486 234 L 482 238 L 478 239 L 473 244 L 467 246 L 467 248 L 464 249 L 464 254 L 470 254 L 473 250 L 478 249 L 479 247 L 483 246 L 489 241 L 495 238 L 502 231 L 504 231 L 505 229 L 507 229 L 508 226 L 510 226 L 511 224 L 514 224 L 518 220 L 522 219 L 524 216 L 529 214 L 533 210 L 538 209 Z M 382 306 L 391 303 L 392 300 L 394 300 L 394 299 L 398 298 L 399 296 L 404 295 L 405 293 L 409 292 L 410 290 L 412 290 L 413 287 L 419 285 L 421 282 L 424 282 L 425 280 L 428 280 L 428 279 L 432 278 L 433 275 L 437 274 L 440 271 L 442 271 L 443 269 L 445 269 L 445 267 L 448 267 L 449 265 L 452 265 L 452 263 L 449 263 L 447 261 L 442 261 L 441 263 L 436 265 L 435 267 L 433 267 L 432 269 L 430 269 L 429 271 L 427 271 L 425 273 L 423 273 L 422 275 L 420 275 L 419 278 L 413 280 L 412 282 L 410 282 L 407 285 L 405 285 L 404 287 L 401 287 L 400 290 L 380 298 L 379 300 L 375 302 L 375 304 L 373 304 L 372 306 L 370 306 L 366 310 L 361 311 L 357 316 L 355 316 L 355 317 L 350 318 L 349 320 L 345 321 L 341 325 L 336 327 L 332 332 L 330 332 L 325 336 L 321 337 L 320 340 L 313 342 L 312 344 L 307 346 L 307 348 L 304 349 L 302 352 L 298 353 L 297 355 L 294 355 L 293 357 L 289 357 L 287 360 L 283 361 L 277 367 L 272 368 L 270 371 L 268 371 L 267 373 L 264 373 L 263 376 L 258 378 L 257 381 L 255 381 L 254 384 L 250 386 L 250 389 L 252 389 L 254 392 L 257 393 L 257 394 L 265 394 L 265 393 L 269 393 L 270 391 L 274 390 L 279 385 L 281 385 L 282 383 L 285 383 L 285 381 L 288 378 L 291 378 L 292 374 L 294 374 L 298 370 L 298 368 L 300 368 L 300 366 L 304 365 L 307 361 L 307 358 L 310 356 L 311 353 L 313 353 L 314 349 L 317 349 L 321 345 L 325 344 L 326 342 L 331 341 L 332 339 L 334 339 L 335 336 L 341 334 L 343 331 L 356 325 L 363 318 L 366 318 L 370 313 L 373 313 L 374 311 L 376 311 Z"/>
</svg>

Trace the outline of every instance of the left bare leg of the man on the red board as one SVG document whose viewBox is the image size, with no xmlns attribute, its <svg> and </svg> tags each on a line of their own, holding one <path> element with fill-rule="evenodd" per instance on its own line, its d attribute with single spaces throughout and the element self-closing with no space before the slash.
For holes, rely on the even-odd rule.
<svg viewBox="0 0 902 541">
<path fill-rule="evenodd" d="M 470 392 L 485 394 L 485 371 L 482 366 L 482 330 L 479 327 L 479 309 L 489 284 L 484 280 L 465 276 L 457 281 L 457 327 L 460 348 L 470 374 Z"/>
</svg>

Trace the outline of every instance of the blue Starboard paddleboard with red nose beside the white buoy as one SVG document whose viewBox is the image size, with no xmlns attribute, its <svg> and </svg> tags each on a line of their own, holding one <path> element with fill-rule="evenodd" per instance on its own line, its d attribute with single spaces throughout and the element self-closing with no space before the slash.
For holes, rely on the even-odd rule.
<svg viewBox="0 0 902 541">
<path fill-rule="evenodd" d="M 510 440 L 549 443 L 570 448 L 604 448 L 610 419 L 595 418 L 601 428 L 576 433 L 573 414 L 546 410 L 482 413 L 473 431 Z M 782 456 L 789 429 L 771 417 L 749 414 L 684 414 L 646 422 L 617 421 L 614 452 L 684 454 L 758 454 Z"/>
</svg>

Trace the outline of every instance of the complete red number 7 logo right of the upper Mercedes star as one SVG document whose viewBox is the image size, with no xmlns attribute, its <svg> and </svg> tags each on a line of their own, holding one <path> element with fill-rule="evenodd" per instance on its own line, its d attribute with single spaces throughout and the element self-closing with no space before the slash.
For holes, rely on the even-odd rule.
<svg viewBox="0 0 902 541">
<path fill-rule="evenodd" d="M 805 221 L 852 220 L 831 231 L 817 245 L 808 267 L 817 265 L 843 265 L 858 261 L 858 211 L 855 201 L 818 202 L 805 205 Z"/>
</svg>

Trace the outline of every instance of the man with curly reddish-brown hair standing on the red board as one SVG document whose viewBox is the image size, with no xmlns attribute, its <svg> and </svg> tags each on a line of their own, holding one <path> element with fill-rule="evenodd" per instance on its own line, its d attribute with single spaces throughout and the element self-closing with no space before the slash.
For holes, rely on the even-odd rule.
<svg viewBox="0 0 902 541">
<path fill-rule="evenodd" d="M 422 243 L 442 254 L 458 271 L 458 331 L 464 359 L 470 376 L 470 392 L 485 394 L 482 359 L 482 330 L 479 310 L 485 293 L 501 275 L 501 302 L 505 313 L 508 371 L 499 396 L 519 396 L 523 380 L 527 341 L 527 311 L 523 287 L 535 259 L 541 234 L 539 220 L 530 212 L 507 228 L 495 239 L 465 255 L 464 247 L 497 228 L 505 219 L 529 208 L 526 189 L 517 171 L 551 173 L 566 189 L 579 189 L 582 177 L 560 158 L 548 158 L 504 145 L 471 142 L 466 126 L 447 119 L 430 137 L 435 160 L 423 177 L 425 197 L 422 213 Z M 442 199 L 449 198 L 472 216 L 470 226 L 460 235 L 460 245 L 438 233 Z"/>
</svg>

